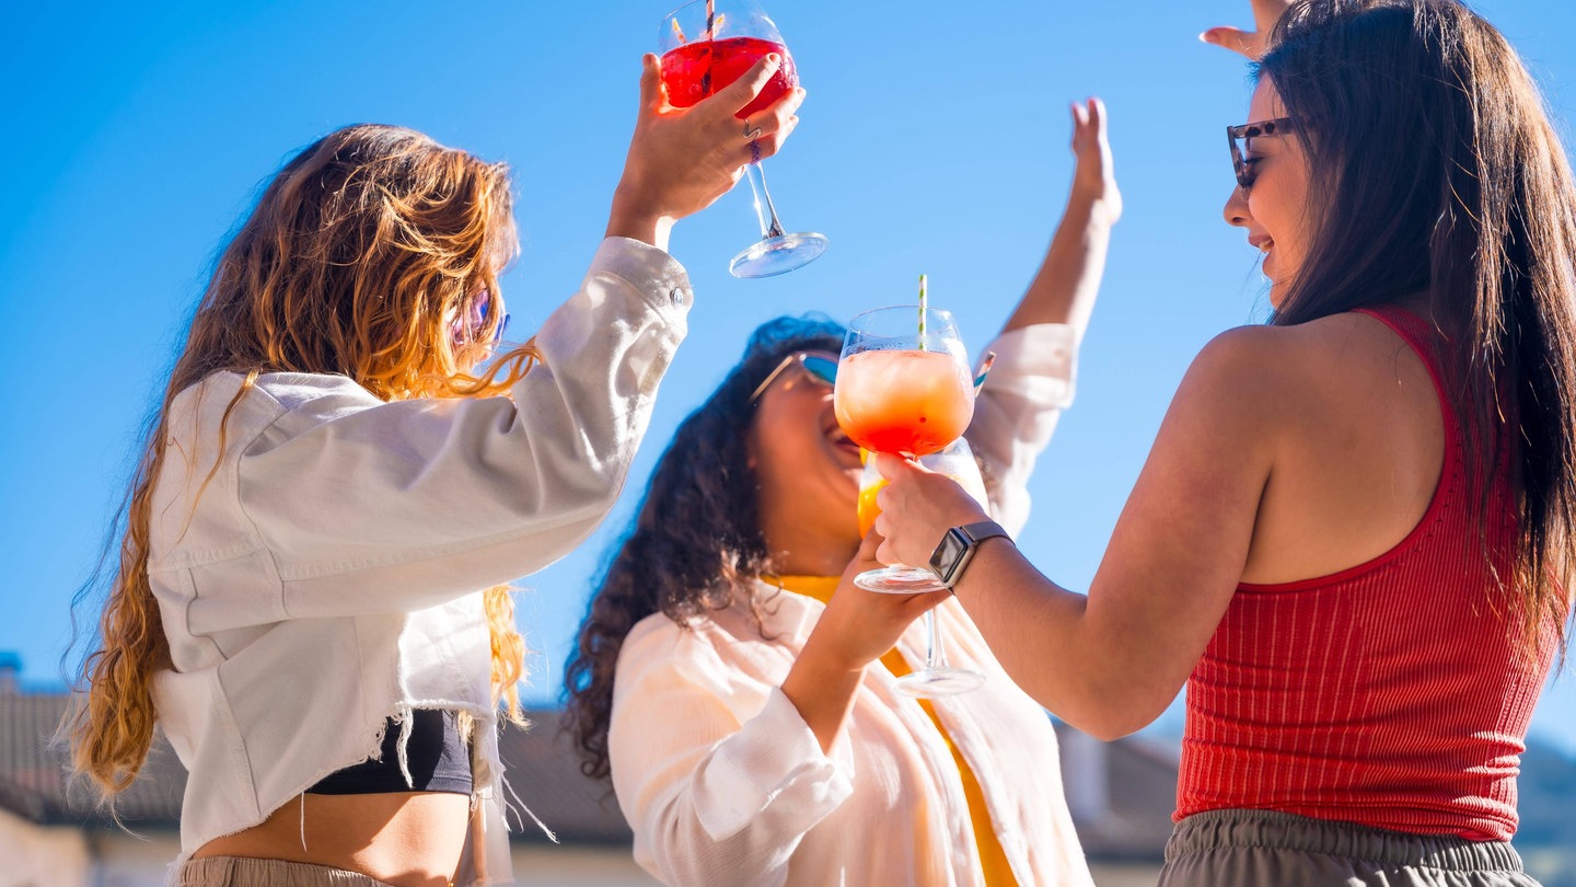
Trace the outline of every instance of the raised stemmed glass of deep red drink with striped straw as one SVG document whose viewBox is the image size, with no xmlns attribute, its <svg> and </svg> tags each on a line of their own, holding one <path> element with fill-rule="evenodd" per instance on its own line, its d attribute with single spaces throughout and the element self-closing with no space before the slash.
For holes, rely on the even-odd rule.
<svg viewBox="0 0 1576 887">
<path fill-rule="evenodd" d="M 668 104 L 689 107 L 711 93 L 738 80 L 761 57 L 775 52 L 782 58 L 777 73 L 738 117 L 749 118 L 799 87 L 799 73 L 777 25 L 750 0 L 693 0 L 662 17 L 657 32 L 662 52 L 662 84 Z M 741 129 L 741 134 L 745 129 Z M 733 257 L 728 271 L 736 278 L 769 278 L 815 260 L 826 251 L 826 235 L 813 230 L 785 234 L 777 221 L 777 207 L 766 189 L 766 172 L 760 161 L 745 167 L 750 191 L 755 193 L 755 216 L 761 224 L 761 240 Z"/>
</svg>

